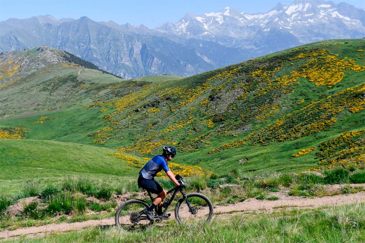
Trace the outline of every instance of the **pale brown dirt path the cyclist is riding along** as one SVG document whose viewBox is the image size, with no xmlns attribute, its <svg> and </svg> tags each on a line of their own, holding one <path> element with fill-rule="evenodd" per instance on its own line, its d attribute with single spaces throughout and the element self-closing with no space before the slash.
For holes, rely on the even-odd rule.
<svg viewBox="0 0 365 243">
<path fill-rule="evenodd" d="M 281 199 L 276 201 L 262 201 L 257 199 L 249 199 L 241 203 L 228 204 L 227 206 L 216 206 L 214 208 L 215 217 L 227 218 L 230 217 L 230 212 L 251 212 L 251 211 L 267 211 L 272 212 L 274 210 L 280 210 L 280 208 L 288 207 L 319 207 L 322 205 L 341 205 L 350 204 L 357 202 L 365 202 L 365 192 L 358 192 L 349 195 L 336 195 L 336 196 L 326 196 L 318 198 L 301 198 L 293 196 L 282 196 Z M 172 213 L 173 216 L 173 213 Z M 53 231 L 67 231 L 67 230 L 77 230 L 88 226 L 105 226 L 114 225 L 114 217 L 102 220 L 88 220 L 84 222 L 77 223 L 59 223 L 59 224 L 47 224 L 38 227 L 28 227 L 20 228 L 17 230 L 4 230 L 0 231 L 0 238 L 9 238 L 15 235 L 27 235 L 36 234 L 39 232 L 53 232 Z"/>
</svg>

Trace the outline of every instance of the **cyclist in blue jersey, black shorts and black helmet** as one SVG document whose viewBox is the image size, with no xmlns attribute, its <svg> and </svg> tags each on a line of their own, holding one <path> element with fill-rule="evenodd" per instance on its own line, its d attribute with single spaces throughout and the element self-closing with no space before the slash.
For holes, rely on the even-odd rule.
<svg viewBox="0 0 365 243">
<path fill-rule="evenodd" d="M 162 149 L 162 155 L 156 155 L 155 157 L 151 158 L 151 160 L 148 161 L 139 172 L 138 187 L 158 195 L 154 199 L 153 203 L 148 208 L 143 210 L 143 213 L 146 214 L 149 220 L 155 220 L 153 215 L 151 215 L 151 212 L 155 206 L 158 206 L 157 214 L 162 215 L 162 203 L 166 197 L 166 191 L 153 178 L 158 172 L 164 169 L 167 176 L 170 178 L 170 180 L 172 180 L 173 183 L 175 183 L 181 189 L 185 188 L 183 183 L 178 183 L 178 181 L 175 179 L 174 173 L 170 171 L 167 165 L 167 162 L 171 161 L 175 155 L 176 149 L 172 146 L 166 145 Z M 170 216 L 170 214 L 167 216 Z"/>
</svg>

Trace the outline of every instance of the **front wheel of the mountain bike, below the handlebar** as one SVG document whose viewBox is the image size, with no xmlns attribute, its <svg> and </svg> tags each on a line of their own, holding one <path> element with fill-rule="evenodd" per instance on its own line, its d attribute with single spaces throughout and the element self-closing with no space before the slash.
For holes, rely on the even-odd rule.
<svg viewBox="0 0 365 243">
<path fill-rule="evenodd" d="M 188 193 L 186 199 L 178 200 L 175 207 L 177 222 L 185 226 L 199 226 L 213 217 L 212 202 L 201 193 Z"/>
</svg>

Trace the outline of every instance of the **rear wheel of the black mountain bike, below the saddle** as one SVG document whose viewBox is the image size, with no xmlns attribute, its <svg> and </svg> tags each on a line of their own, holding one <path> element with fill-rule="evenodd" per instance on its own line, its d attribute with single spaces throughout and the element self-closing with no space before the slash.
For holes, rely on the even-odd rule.
<svg viewBox="0 0 365 243">
<path fill-rule="evenodd" d="M 144 230 L 153 221 L 142 213 L 149 205 L 143 200 L 131 199 L 124 202 L 115 213 L 115 224 L 125 231 Z"/>
</svg>

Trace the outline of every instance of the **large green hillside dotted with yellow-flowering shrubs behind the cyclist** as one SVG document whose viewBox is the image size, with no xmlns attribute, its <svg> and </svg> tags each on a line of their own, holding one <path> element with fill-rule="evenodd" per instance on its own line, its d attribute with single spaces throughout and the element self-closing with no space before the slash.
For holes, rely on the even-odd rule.
<svg viewBox="0 0 365 243">
<path fill-rule="evenodd" d="M 219 173 L 363 168 L 364 44 L 317 42 L 189 78 L 125 81 L 139 86 L 118 98 L 108 86 L 85 108 L 5 119 L 1 127 L 139 156 L 172 144 L 173 162 Z M 53 118 L 34 123 L 42 117 Z"/>
</svg>

